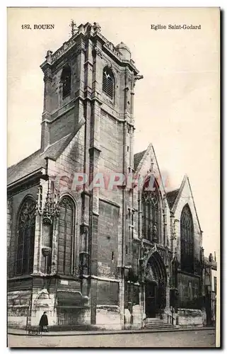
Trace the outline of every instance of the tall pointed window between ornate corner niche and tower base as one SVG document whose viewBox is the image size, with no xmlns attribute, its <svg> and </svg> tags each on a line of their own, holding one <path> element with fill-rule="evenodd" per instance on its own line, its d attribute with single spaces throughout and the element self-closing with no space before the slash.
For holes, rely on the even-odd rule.
<svg viewBox="0 0 227 354">
<path fill-rule="evenodd" d="M 59 202 L 58 273 L 71 275 L 74 264 L 75 206 L 70 197 Z"/>
</svg>

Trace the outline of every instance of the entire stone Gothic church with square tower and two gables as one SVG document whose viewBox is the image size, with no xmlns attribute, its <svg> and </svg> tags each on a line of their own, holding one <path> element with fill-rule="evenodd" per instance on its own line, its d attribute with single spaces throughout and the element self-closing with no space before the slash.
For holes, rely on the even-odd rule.
<svg viewBox="0 0 227 354">
<path fill-rule="evenodd" d="M 134 154 L 129 48 L 81 24 L 41 69 L 40 149 L 8 168 L 8 326 L 202 326 L 190 181 L 167 193 L 152 144 Z"/>
</svg>

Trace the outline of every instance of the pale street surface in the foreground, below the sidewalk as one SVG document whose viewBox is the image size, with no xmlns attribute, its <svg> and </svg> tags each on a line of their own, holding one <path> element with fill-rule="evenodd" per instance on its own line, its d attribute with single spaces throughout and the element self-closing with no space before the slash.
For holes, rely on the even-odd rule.
<svg viewBox="0 0 227 354">
<path fill-rule="evenodd" d="M 83 336 L 8 335 L 9 347 L 215 347 L 215 331 L 176 331 Z"/>
</svg>

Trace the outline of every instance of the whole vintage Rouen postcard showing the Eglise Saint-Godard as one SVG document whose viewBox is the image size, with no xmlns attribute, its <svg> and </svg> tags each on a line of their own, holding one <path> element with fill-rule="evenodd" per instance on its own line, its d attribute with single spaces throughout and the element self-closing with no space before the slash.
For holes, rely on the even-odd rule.
<svg viewBox="0 0 227 354">
<path fill-rule="evenodd" d="M 8 8 L 8 347 L 220 347 L 220 8 Z"/>
</svg>

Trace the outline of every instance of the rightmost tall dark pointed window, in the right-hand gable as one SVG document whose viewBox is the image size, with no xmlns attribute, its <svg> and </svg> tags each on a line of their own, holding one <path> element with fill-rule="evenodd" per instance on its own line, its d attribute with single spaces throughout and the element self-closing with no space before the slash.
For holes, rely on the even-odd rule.
<svg viewBox="0 0 227 354">
<path fill-rule="evenodd" d="M 181 269 L 193 273 L 194 268 L 194 229 L 190 207 L 183 207 L 180 217 Z"/>
</svg>

